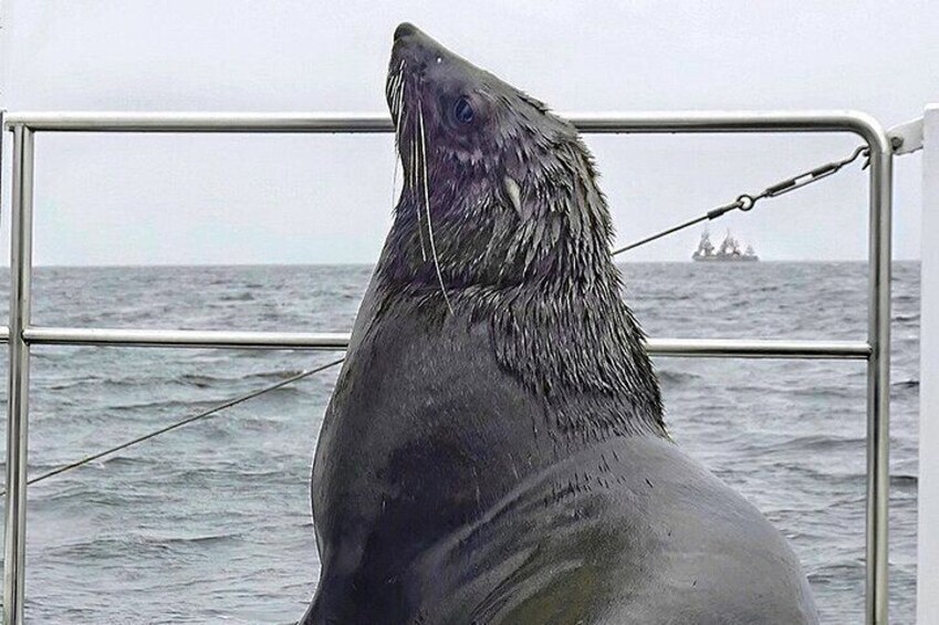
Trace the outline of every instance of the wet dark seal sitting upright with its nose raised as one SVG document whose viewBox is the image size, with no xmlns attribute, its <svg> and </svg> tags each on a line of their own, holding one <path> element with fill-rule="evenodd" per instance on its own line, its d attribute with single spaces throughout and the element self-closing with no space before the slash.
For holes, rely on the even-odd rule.
<svg viewBox="0 0 939 625">
<path fill-rule="evenodd" d="M 817 623 L 764 517 L 682 454 L 590 153 L 410 24 L 405 185 L 312 471 L 303 624 Z"/>
</svg>

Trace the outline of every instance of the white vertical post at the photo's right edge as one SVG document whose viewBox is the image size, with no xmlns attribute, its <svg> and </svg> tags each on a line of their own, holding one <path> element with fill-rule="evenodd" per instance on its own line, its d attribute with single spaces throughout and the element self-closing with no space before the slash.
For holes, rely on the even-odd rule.
<svg viewBox="0 0 939 625">
<path fill-rule="evenodd" d="M 917 623 L 939 614 L 939 105 L 922 118 Z"/>
</svg>

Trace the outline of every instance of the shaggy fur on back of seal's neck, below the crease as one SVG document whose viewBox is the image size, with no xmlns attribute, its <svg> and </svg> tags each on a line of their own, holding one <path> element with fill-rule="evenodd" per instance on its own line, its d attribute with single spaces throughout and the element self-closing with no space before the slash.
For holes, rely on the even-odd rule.
<svg viewBox="0 0 939 625">
<path fill-rule="evenodd" d="M 559 426 L 665 434 L 658 381 L 618 275 L 564 293 L 522 289 L 487 308 L 500 364 L 560 409 Z"/>
</svg>

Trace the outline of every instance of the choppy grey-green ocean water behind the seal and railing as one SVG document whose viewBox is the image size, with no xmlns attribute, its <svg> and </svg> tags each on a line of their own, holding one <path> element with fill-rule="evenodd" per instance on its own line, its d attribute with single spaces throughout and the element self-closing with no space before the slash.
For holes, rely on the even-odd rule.
<svg viewBox="0 0 939 625">
<path fill-rule="evenodd" d="M 625 264 L 651 336 L 863 340 L 862 263 Z M 347 331 L 367 267 L 36 270 L 34 321 Z M 0 295 L 4 295 L 0 293 Z M 3 298 L 2 301 L 6 301 Z M 914 623 L 919 268 L 894 274 L 890 612 Z M 33 475 L 334 358 L 40 347 Z M 865 366 L 657 358 L 677 441 L 791 540 L 824 623 L 864 605 Z M 337 368 L 30 490 L 32 623 L 292 623 L 319 562 L 309 471 Z M 6 375 L 6 371 L 2 371 Z"/>
</svg>

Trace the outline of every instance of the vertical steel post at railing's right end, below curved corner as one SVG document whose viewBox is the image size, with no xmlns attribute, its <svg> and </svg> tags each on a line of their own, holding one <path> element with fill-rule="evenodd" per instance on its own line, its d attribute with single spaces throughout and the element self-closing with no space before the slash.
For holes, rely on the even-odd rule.
<svg viewBox="0 0 939 625">
<path fill-rule="evenodd" d="M 867 362 L 866 622 L 886 625 L 890 490 L 890 237 L 893 148 L 870 142 L 870 215 Z"/>
</svg>

